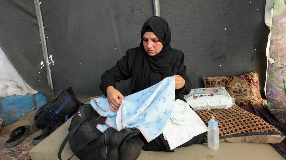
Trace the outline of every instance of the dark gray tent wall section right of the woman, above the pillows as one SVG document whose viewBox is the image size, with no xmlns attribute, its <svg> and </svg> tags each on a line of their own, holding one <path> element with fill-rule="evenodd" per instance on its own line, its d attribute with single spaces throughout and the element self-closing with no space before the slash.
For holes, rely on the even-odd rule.
<svg viewBox="0 0 286 160">
<path fill-rule="evenodd" d="M 176 3 L 177 2 L 177 3 Z M 172 32 L 172 47 L 185 53 L 193 88 L 204 87 L 202 76 L 259 73 L 265 98 L 269 28 L 266 0 L 160 1 L 161 17 Z"/>
</svg>

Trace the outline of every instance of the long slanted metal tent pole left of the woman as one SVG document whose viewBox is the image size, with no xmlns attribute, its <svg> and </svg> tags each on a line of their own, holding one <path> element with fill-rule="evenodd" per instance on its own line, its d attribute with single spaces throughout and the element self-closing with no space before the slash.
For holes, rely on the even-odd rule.
<svg viewBox="0 0 286 160">
<path fill-rule="evenodd" d="M 47 74 L 47 81 L 48 81 L 49 86 L 51 86 L 51 88 L 53 89 L 53 81 L 52 81 L 51 69 L 49 65 L 49 55 L 48 55 L 48 50 L 47 50 L 47 43 L 46 43 L 46 38 L 45 38 L 40 3 L 39 3 L 39 0 L 34 0 L 34 3 L 35 3 L 35 9 L 36 9 L 36 14 L 37 14 L 37 19 L 38 19 L 39 32 L 40 32 L 40 38 L 41 38 L 41 44 L 42 44 L 42 50 L 43 50 L 44 65 L 45 65 L 46 74 Z"/>
</svg>

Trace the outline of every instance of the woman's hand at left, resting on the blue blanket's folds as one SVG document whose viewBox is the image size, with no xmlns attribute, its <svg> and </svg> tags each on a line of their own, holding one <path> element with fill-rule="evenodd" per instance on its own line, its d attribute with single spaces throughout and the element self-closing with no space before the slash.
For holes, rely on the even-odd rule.
<svg viewBox="0 0 286 160">
<path fill-rule="evenodd" d="M 113 86 L 109 86 L 106 88 L 106 94 L 107 94 L 107 100 L 108 100 L 111 110 L 116 112 L 116 110 L 118 110 L 120 107 L 120 101 L 118 98 L 120 98 L 121 100 L 124 100 L 124 96 Z"/>
</svg>

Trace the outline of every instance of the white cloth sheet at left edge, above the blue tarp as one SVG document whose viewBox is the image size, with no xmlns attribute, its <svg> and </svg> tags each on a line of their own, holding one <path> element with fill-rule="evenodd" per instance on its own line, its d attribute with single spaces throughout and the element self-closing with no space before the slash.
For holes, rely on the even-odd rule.
<svg viewBox="0 0 286 160">
<path fill-rule="evenodd" d="M 21 89 L 19 87 L 21 87 Z M 38 91 L 32 89 L 8 60 L 0 48 L 0 99 L 12 95 L 36 94 Z"/>
</svg>

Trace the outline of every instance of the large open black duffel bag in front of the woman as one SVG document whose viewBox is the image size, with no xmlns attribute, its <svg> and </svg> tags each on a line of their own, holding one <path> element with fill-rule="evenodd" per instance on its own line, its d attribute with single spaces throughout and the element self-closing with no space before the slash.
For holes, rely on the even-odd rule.
<svg viewBox="0 0 286 160">
<path fill-rule="evenodd" d="M 69 142 L 70 149 L 81 160 L 137 159 L 144 145 L 138 136 L 140 131 L 127 129 L 119 132 L 110 127 L 102 133 L 96 126 L 105 124 L 105 121 L 106 117 L 101 117 L 90 104 L 81 106 L 72 118 L 58 158 L 61 160 L 63 148 Z"/>
</svg>

